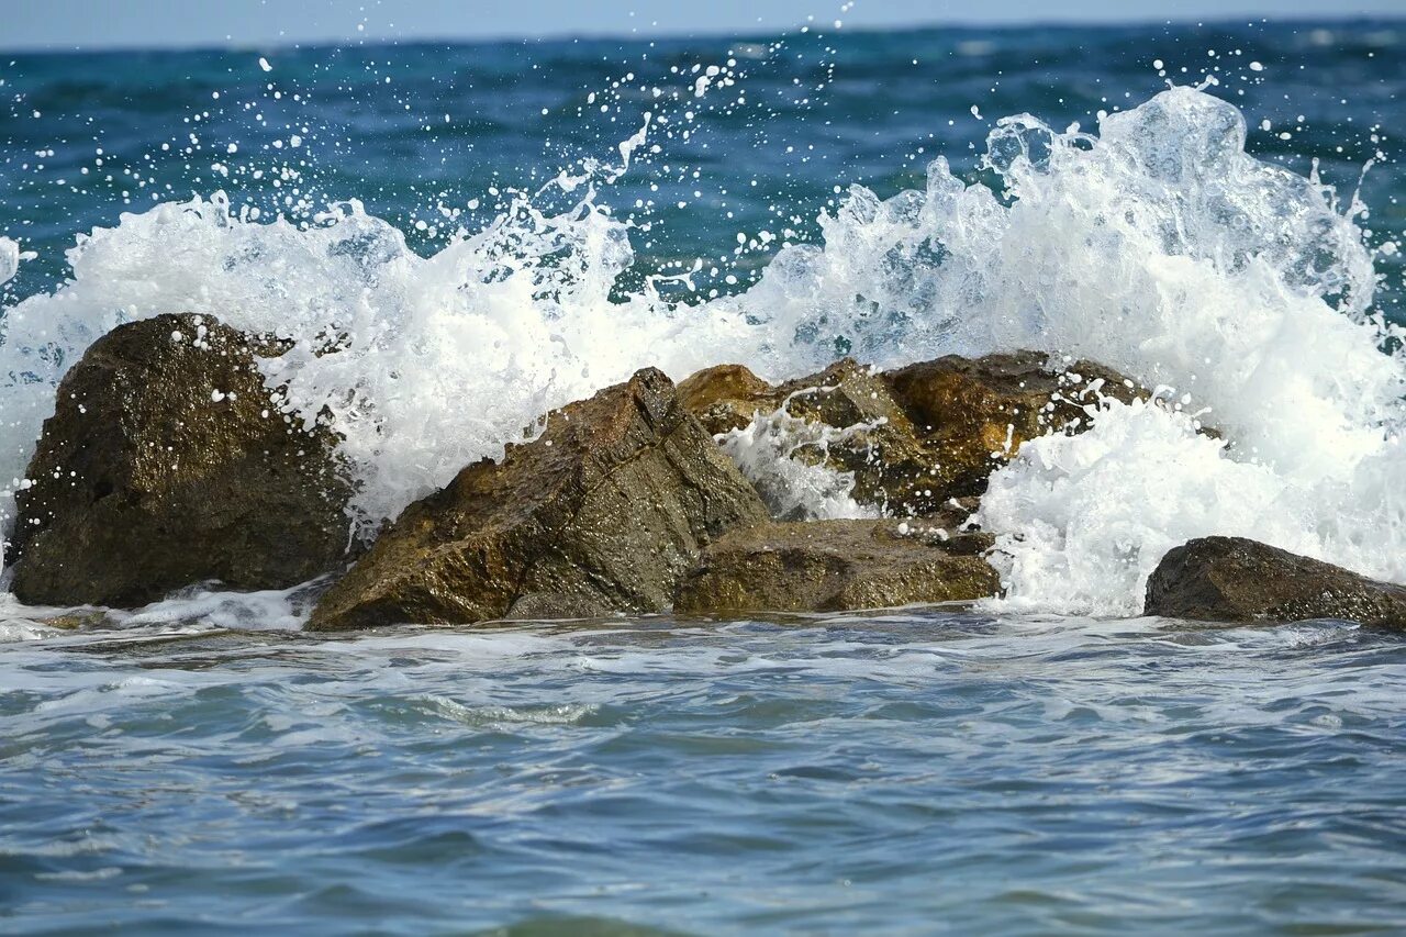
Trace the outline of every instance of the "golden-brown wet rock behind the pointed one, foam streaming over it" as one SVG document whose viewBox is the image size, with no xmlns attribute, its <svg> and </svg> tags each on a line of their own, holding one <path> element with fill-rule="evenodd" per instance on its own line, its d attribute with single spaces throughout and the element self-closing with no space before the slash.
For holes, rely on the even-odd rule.
<svg viewBox="0 0 1406 937">
<path fill-rule="evenodd" d="M 790 457 L 852 473 L 855 501 L 894 516 L 928 516 L 952 498 L 980 495 L 1025 440 L 1088 429 L 1099 395 L 1149 394 L 1088 362 L 1050 369 L 1036 352 L 948 356 L 890 373 L 844 359 L 778 387 L 721 364 L 679 384 L 685 407 L 714 435 L 783 405 L 830 428 L 824 446 L 804 443 Z"/>
</svg>

